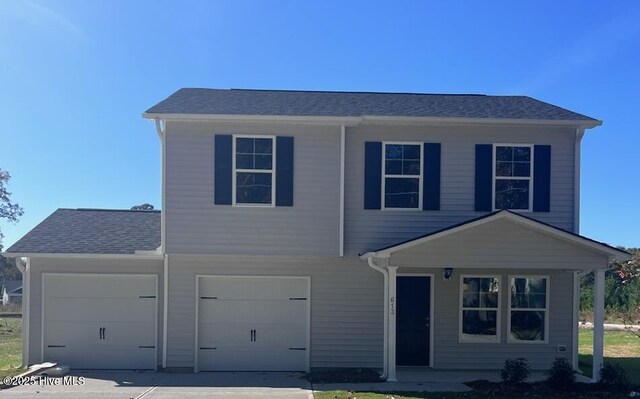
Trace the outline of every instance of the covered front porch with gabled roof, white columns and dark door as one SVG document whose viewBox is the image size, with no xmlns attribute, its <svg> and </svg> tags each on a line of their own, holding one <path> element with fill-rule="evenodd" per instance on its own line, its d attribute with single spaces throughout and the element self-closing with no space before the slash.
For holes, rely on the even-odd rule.
<svg viewBox="0 0 640 399">
<path fill-rule="evenodd" d="M 504 361 L 519 357 L 532 378 L 556 357 L 577 369 L 579 281 L 594 271 L 596 381 L 614 257 L 629 254 L 509 211 L 367 252 L 361 258 L 384 276 L 383 377 L 499 379 Z"/>
</svg>

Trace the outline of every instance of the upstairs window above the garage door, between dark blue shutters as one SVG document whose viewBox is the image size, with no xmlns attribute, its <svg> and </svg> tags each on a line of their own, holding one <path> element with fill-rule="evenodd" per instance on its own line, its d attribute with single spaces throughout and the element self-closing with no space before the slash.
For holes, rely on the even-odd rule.
<svg viewBox="0 0 640 399">
<path fill-rule="evenodd" d="M 233 203 L 273 206 L 275 150 L 272 136 L 233 136 Z"/>
</svg>

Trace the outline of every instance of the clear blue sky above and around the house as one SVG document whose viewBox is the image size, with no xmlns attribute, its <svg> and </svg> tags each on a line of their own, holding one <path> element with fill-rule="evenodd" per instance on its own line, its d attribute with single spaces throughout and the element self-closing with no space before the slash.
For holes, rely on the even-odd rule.
<svg viewBox="0 0 640 399">
<path fill-rule="evenodd" d="M 637 1 L 0 0 L 0 168 L 25 209 L 160 206 L 180 87 L 525 94 L 598 119 L 581 233 L 640 246 Z"/>
</svg>

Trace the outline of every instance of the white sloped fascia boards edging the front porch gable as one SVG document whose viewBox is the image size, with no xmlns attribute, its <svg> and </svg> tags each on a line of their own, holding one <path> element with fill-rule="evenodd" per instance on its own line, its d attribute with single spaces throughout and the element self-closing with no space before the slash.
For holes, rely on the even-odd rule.
<svg viewBox="0 0 640 399">
<path fill-rule="evenodd" d="M 486 218 L 483 219 L 479 219 L 476 220 L 474 222 L 470 222 L 467 224 L 463 224 L 460 225 L 458 227 L 454 227 L 452 229 L 449 230 L 444 230 L 441 231 L 439 233 L 436 234 L 432 234 L 430 236 L 427 237 L 423 237 L 423 238 L 419 238 L 413 241 L 409 241 L 409 242 L 405 242 L 403 244 L 399 244 L 397 246 L 394 247 L 390 247 L 381 251 L 377 251 L 377 252 L 368 252 L 364 255 L 362 255 L 362 259 L 366 259 L 367 257 L 376 257 L 376 258 L 384 258 L 384 257 L 389 257 L 392 253 L 394 252 L 398 252 L 401 251 L 403 249 L 406 248 L 410 248 L 410 247 L 414 247 L 416 245 L 420 245 L 420 244 L 424 244 L 426 242 L 429 241 L 433 241 L 436 240 L 438 238 L 441 237 L 445 237 L 451 234 L 455 234 L 455 233 L 459 233 L 461 231 L 464 230 L 468 230 L 470 228 L 476 227 L 476 226 L 480 226 L 483 225 L 485 223 L 490 223 L 492 221 L 495 220 L 499 220 L 499 219 L 508 219 L 514 223 L 520 224 L 522 226 L 525 226 L 527 228 L 530 228 L 531 230 L 534 231 L 538 231 L 541 232 L 543 234 L 558 238 L 560 240 L 569 242 L 570 244 L 576 245 L 576 246 L 580 246 L 580 247 L 584 247 L 586 249 L 589 249 L 591 251 L 594 252 L 598 252 L 601 253 L 603 255 L 608 255 L 610 258 L 616 258 L 620 261 L 627 261 L 631 259 L 631 255 L 629 255 L 628 253 L 621 251 L 619 249 L 615 249 L 613 247 L 609 247 L 606 246 L 604 244 L 600 244 L 598 242 L 595 241 L 591 241 L 589 239 L 586 239 L 584 237 L 581 236 L 577 236 L 568 232 L 565 232 L 563 230 L 557 229 L 555 227 L 551 227 L 551 226 L 547 226 L 545 224 L 536 222 L 535 220 L 531 220 L 528 218 L 524 218 L 522 216 L 519 216 L 515 213 L 512 212 L 508 212 L 508 211 L 502 211 L 502 212 L 498 212 L 494 215 L 488 216 Z"/>
</svg>

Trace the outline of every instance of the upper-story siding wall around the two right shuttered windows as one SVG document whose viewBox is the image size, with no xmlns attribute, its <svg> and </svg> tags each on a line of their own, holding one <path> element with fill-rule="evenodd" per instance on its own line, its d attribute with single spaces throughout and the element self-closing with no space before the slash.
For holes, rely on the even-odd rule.
<svg viewBox="0 0 640 399">
<path fill-rule="evenodd" d="M 363 207 L 367 141 L 441 143 L 440 210 L 371 212 Z M 345 165 L 345 254 L 358 254 L 477 218 L 475 146 L 487 143 L 551 145 L 551 212 L 527 216 L 573 231 L 575 129 L 505 126 L 347 127 Z"/>
</svg>

